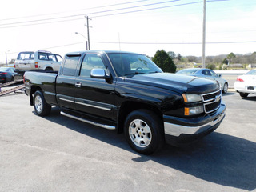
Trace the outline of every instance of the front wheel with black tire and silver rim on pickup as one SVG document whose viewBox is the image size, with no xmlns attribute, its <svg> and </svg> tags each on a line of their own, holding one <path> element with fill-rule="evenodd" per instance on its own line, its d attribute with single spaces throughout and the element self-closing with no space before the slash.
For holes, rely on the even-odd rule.
<svg viewBox="0 0 256 192">
<path fill-rule="evenodd" d="M 163 123 L 150 110 L 134 110 L 128 114 L 124 133 L 130 147 L 141 154 L 152 154 L 165 142 Z"/>
</svg>

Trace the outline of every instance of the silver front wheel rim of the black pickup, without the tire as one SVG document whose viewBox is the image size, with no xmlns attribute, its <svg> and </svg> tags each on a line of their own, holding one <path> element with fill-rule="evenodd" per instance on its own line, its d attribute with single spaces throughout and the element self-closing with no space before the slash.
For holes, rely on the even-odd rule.
<svg viewBox="0 0 256 192">
<path fill-rule="evenodd" d="M 150 126 L 142 119 L 134 119 L 129 126 L 130 139 L 138 147 L 146 147 L 150 145 L 152 134 Z"/>
</svg>

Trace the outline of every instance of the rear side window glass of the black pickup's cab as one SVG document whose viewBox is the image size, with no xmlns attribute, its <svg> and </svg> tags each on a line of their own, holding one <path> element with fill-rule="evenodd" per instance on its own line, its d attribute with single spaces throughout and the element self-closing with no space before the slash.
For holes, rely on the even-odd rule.
<svg viewBox="0 0 256 192">
<path fill-rule="evenodd" d="M 78 66 L 79 58 L 80 56 L 66 56 L 62 74 L 66 76 L 74 76 L 75 70 Z"/>
</svg>

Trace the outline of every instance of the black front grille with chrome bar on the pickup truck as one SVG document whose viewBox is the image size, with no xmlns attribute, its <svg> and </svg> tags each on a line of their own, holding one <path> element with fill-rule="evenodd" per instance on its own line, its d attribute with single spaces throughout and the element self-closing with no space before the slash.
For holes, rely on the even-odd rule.
<svg viewBox="0 0 256 192">
<path fill-rule="evenodd" d="M 206 114 L 210 114 L 214 110 L 218 110 L 222 102 L 222 90 L 209 94 L 202 94 L 202 101 Z"/>
</svg>

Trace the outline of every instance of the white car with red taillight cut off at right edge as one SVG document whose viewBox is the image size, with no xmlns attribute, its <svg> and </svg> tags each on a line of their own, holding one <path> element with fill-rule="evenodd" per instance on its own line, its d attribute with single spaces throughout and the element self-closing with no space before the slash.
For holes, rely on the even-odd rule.
<svg viewBox="0 0 256 192">
<path fill-rule="evenodd" d="M 246 74 L 239 76 L 234 82 L 234 90 L 242 98 L 246 98 L 248 94 L 256 94 L 256 70 L 250 70 Z"/>
</svg>

